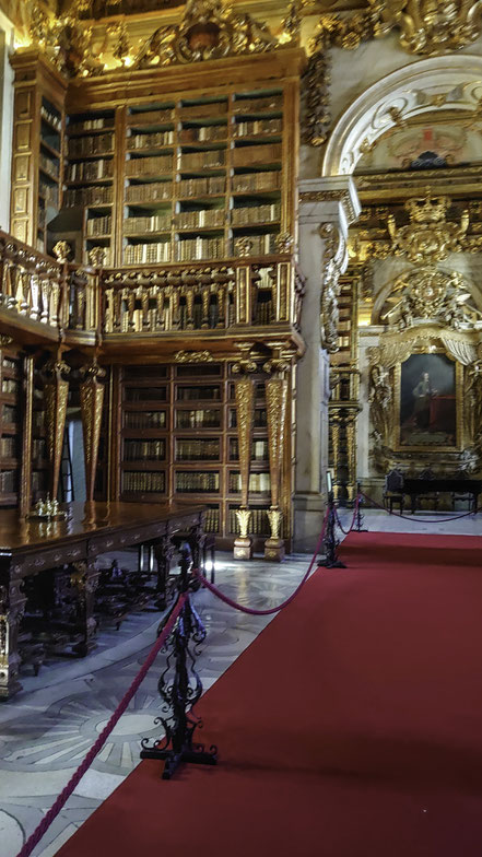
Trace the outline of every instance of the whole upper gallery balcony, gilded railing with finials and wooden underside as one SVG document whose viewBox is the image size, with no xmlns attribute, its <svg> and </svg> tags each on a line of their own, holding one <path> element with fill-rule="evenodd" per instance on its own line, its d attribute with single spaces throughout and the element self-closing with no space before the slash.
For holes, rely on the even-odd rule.
<svg viewBox="0 0 482 857">
<path fill-rule="evenodd" d="M 166 355 L 191 339 L 222 356 L 239 336 L 267 333 L 303 351 L 304 280 L 292 249 L 185 263 L 103 268 L 58 260 L 0 232 L 0 324 L 19 342 L 101 347 L 111 356 Z M 97 263 L 97 265 L 96 265 Z"/>
</svg>

